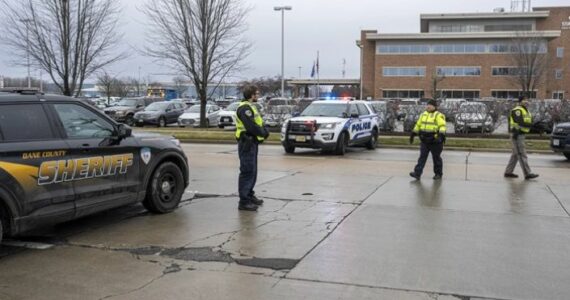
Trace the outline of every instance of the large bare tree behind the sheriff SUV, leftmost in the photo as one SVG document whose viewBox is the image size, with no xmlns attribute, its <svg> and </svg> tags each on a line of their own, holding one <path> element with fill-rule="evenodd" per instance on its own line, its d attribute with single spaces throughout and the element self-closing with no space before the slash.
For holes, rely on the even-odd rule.
<svg viewBox="0 0 570 300">
<path fill-rule="evenodd" d="M 117 1 L 0 1 L 3 42 L 18 56 L 15 63 L 27 64 L 29 54 L 64 95 L 79 95 L 86 78 L 124 57 L 115 48 Z"/>
</svg>

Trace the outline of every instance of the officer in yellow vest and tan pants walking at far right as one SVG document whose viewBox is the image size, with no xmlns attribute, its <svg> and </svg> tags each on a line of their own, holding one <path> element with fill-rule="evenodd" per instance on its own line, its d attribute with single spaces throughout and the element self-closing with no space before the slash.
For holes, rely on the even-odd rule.
<svg viewBox="0 0 570 300">
<path fill-rule="evenodd" d="M 515 173 L 517 162 L 520 163 L 526 180 L 537 178 L 538 174 L 533 174 L 528 165 L 528 157 L 524 144 L 524 135 L 530 132 L 532 127 L 532 115 L 527 109 L 528 99 L 526 96 L 519 97 L 519 104 L 511 110 L 509 116 L 509 127 L 511 129 L 511 141 L 513 143 L 513 154 L 505 170 L 505 177 L 518 178 Z"/>
</svg>

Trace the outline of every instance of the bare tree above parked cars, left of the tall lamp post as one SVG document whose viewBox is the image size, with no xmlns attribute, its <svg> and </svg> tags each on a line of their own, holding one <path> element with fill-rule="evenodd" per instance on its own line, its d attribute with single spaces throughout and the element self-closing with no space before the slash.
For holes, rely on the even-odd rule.
<svg viewBox="0 0 570 300">
<path fill-rule="evenodd" d="M 194 83 L 202 103 L 201 127 L 206 126 L 208 85 L 242 69 L 250 52 L 243 37 L 247 11 L 242 0 L 148 0 L 144 7 L 152 44 L 145 52 Z"/>
</svg>

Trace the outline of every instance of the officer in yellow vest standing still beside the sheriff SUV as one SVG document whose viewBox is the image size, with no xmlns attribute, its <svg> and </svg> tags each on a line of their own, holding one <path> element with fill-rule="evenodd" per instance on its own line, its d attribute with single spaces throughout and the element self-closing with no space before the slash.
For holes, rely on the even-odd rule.
<svg viewBox="0 0 570 300">
<path fill-rule="evenodd" d="M 236 115 L 236 139 L 239 154 L 239 210 L 256 211 L 263 200 L 255 196 L 253 188 L 257 181 L 258 146 L 269 136 L 269 131 L 263 124 L 263 119 L 253 103 L 257 102 L 259 90 L 249 85 L 243 91 Z"/>
</svg>

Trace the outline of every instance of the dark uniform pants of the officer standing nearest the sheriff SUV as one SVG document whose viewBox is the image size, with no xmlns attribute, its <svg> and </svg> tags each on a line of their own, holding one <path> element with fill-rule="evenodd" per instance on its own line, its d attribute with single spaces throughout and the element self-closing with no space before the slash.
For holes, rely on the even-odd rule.
<svg viewBox="0 0 570 300">
<path fill-rule="evenodd" d="M 239 154 L 239 202 L 246 204 L 255 194 L 253 188 L 257 182 L 257 152 L 259 145 L 250 139 L 238 141 Z"/>
</svg>

